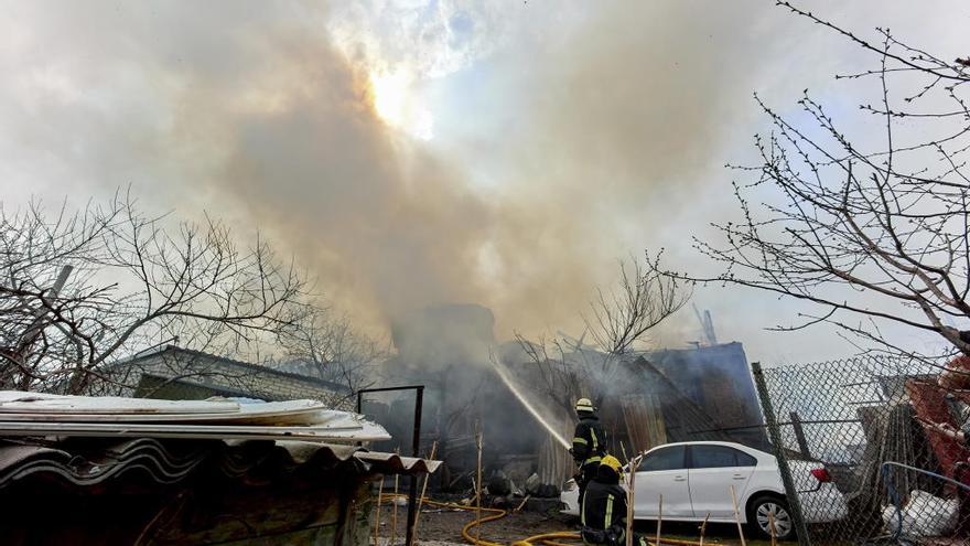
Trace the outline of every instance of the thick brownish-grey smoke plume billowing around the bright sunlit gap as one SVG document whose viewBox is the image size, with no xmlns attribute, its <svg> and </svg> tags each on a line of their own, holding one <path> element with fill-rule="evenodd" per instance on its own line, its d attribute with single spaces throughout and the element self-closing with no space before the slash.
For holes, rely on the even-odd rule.
<svg viewBox="0 0 970 546">
<path fill-rule="evenodd" d="M 497 95 L 510 94 L 517 127 L 476 159 L 507 165 L 505 190 L 488 194 L 375 115 L 367 74 L 337 51 L 323 10 L 21 8 L 4 24 L 20 23 L 3 60 L 17 74 L 3 90 L 17 105 L 3 111 L 6 151 L 18 139 L 45 148 L 55 188 L 131 183 L 160 210 L 258 225 L 321 290 L 378 319 L 445 301 L 487 304 L 506 329 L 575 317 L 628 250 L 624 232 L 654 224 L 642 204 L 692 182 L 719 130 L 710 119 L 747 92 L 712 69 L 736 50 L 691 53 L 730 19 L 627 3 L 576 15 L 568 34 L 525 40 L 535 69 Z M 479 41 L 497 29 L 472 24 Z"/>
</svg>

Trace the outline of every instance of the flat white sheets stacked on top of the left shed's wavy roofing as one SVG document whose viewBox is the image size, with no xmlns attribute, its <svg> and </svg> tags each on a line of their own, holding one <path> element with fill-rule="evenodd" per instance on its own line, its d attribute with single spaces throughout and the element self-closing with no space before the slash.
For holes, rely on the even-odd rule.
<svg viewBox="0 0 970 546">
<path fill-rule="evenodd" d="M 0 436 L 304 440 L 390 439 L 384 427 L 316 400 L 61 396 L 0 390 Z"/>
</svg>

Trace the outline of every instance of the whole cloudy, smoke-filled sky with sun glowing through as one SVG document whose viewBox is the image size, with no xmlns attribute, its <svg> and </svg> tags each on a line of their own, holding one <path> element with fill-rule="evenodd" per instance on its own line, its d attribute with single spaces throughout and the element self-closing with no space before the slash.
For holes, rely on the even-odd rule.
<svg viewBox="0 0 970 546">
<path fill-rule="evenodd" d="M 963 2 L 800 6 L 970 53 Z M 618 259 L 662 247 L 711 272 L 690 238 L 739 216 L 724 164 L 768 129 L 753 93 L 796 120 L 802 89 L 849 115 L 832 76 L 872 62 L 761 0 L 0 2 L 0 194 L 130 188 L 149 212 L 258 229 L 373 332 L 476 302 L 499 338 L 579 335 Z M 809 310 L 767 293 L 692 301 L 768 365 L 854 351 L 824 326 L 766 331 Z M 698 338 L 688 308 L 653 343 Z"/>
</svg>

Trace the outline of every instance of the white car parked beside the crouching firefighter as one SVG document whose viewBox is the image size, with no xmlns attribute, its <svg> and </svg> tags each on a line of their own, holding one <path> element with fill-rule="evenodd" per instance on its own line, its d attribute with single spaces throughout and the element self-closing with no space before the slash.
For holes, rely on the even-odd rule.
<svg viewBox="0 0 970 546">
<path fill-rule="evenodd" d="M 849 508 L 822 464 L 790 461 L 791 478 L 806 523 L 834 522 Z M 667 443 L 646 452 L 636 471 L 634 517 L 656 520 L 664 495 L 665 521 L 734 523 L 734 485 L 742 523 L 770 536 L 768 514 L 774 513 L 778 538 L 794 536 L 795 526 L 775 457 L 740 443 L 692 441 Z M 579 488 L 570 480 L 560 497 L 567 514 L 579 515 Z"/>
</svg>

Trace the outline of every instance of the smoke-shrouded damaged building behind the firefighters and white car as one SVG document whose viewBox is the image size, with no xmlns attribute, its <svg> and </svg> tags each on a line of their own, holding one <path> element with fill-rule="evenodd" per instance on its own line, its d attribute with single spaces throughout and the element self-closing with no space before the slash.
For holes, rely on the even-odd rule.
<svg viewBox="0 0 970 546">
<path fill-rule="evenodd" d="M 438 489 L 462 492 L 472 486 L 477 428 L 486 446 L 486 478 L 502 471 L 522 484 L 536 474 L 550 488 L 530 491 L 534 496 L 543 491 L 558 495 L 562 481 L 574 471 L 567 447 L 551 438 L 499 381 L 494 362 L 500 361 L 515 376 L 524 395 L 543 408 L 563 438 L 572 435 L 572 402 L 563 405 L 543 398 L 541 389 L 534 388 L 542 381 L 540 371 L 518 343 L 495 341 L 494 322 L 488 309 L 459 304 L 425 308 L 398 321 L 392 330 L 398 354 L 385 365 L 386 382 L 425 386 L 421 452 L 438 446 L 444 461 L 433 482 Z M 616 382 L 601 407 L 610 445 L 617 453 L 621 443 L 632 453 L 701 439 L 767 446 L 741 343 L 635 353 L 617 365 L 623 381 Z M 407 437 L 412 408 L 410 395 L 369 397 L 364 405 L 365 414 L 386 424 L 396 438 Z M 407 442 L 380 447 L 411 450 Z"/>
</svg>

